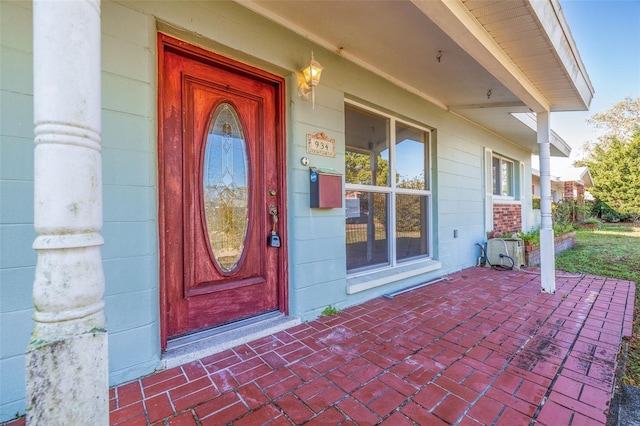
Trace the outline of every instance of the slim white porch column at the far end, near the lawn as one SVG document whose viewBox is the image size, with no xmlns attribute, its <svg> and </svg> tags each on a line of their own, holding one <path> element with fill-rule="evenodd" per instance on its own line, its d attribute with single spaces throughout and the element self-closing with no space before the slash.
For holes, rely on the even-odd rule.
<svg viewBox="0 0 640 426">
<path fill-rule="evenodd" d="M 540 269 L 542 291 L 556 292 L 556 262 L 551 216 L 551 124 L 550 113 L 538 113 L 538 147 L 540 148 Z"/>
</svg>

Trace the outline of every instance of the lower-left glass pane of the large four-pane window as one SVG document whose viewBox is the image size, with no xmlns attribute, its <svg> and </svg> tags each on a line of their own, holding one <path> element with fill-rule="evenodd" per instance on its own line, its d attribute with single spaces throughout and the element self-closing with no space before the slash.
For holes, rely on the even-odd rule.
<svg viewBox="0 0 640 426">
<path fill-rule="evenodd" d="M 347 270 L 389 264 L 389 194 L 346 192 Z"/>
</svg>

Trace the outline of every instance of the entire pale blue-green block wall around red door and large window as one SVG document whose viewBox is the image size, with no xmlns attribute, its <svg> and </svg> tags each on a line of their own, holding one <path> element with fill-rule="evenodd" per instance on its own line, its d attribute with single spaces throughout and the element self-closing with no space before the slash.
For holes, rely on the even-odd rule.
<svg viewBox="0 0 640 426">
<path fill-rule="evenodd" d="M 32 328 L 33 114 L 30 2 L 0 2 L 0 421 L 24 407 L 24 350 Z M 527 162 L 529 153 L 399 89 L 233 2 L 102 2 L 103 195 L 106 313 L 111 384 L 159 366 L 156 32 L 160 29 L 287 79 L 287 202 L 290 313 L 315 318 L 475 264 L 485 239 L 483 149 Z M 316 107 L 298 97 L 297 70 L 311 51 L 325 72 Z M 311 165 L 344 174 L 344 101 L 352 99 L 434 129 L 434 254 L 441 267 L 347 293 L 344 209 L 309 208 Z M 5 111 L 8 111 L 5 115 Z M 335 158 L 306 153 L 323 131 Z M 529 167 L 529 166 L 527 166 Z M 9 200 L 9 201 L 5 201 Z M 530 204 L 530 202 L 529 202 Z M 454 230 L 457 238 L 454 238 Z M 10 373 L 8 373 L 10 372 Z"/>
</svg>

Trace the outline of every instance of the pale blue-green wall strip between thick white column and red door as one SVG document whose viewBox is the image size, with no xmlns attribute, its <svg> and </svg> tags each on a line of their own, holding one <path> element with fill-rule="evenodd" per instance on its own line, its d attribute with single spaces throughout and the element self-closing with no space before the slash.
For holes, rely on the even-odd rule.
<svg viewBox="0 0 640 426">
<path fill-rule="evenodd" d="M 160 360 L 156 38 L 148 16 L 102 3 L 102 161 L 109 380 Z"/>
</svg>

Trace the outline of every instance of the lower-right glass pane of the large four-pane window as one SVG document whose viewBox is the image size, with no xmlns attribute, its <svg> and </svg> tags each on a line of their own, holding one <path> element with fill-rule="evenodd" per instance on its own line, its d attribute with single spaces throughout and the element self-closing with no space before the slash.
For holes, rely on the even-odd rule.
<svg viewBox="0 0 640 426">
<path fill-rule="evenodd" d="M 396 196 L 396 257 L 409 259 L 428 254 L 427 197 Z"/>
</svg>

